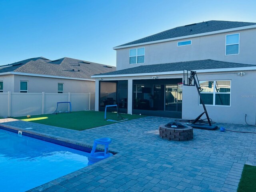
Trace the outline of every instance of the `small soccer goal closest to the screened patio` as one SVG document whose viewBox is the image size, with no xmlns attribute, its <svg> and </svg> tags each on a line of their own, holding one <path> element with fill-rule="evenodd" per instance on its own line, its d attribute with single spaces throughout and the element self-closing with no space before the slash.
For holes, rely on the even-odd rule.
<svg viewBox="0 0 256 192">
<path fill-rule="evenodd" d="M 106 105 L 104 118 L 107 121 L 113 121 L 113 122 L 127 120 L 120 113 L 118 113 L 117 105 Z"/>
</svg>

